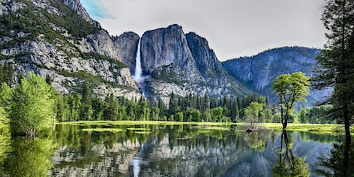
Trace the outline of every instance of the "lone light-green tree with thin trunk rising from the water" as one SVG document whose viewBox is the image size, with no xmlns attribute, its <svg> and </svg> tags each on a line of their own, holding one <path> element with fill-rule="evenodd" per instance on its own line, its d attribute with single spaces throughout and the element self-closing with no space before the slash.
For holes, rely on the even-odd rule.
<svg viewBox="0 0 354 177">
<path fill-rule="evenodd" d="M 281 109 L 281 123 L 283 129 L 288 125 L 288 119 L 294 111 L 295 102 L 306 101 L 305 97 L 309 94 L 310 77 L 304 73 L 297 72 L 279 75 L 274 78 L 273 91 L 279 96 L 279 106 Z"/>
</svg>

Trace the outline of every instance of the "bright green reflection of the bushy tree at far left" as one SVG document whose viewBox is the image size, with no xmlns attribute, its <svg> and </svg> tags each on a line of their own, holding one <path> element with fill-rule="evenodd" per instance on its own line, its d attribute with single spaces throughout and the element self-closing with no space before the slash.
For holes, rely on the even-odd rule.
<svg viewBox="0 0 354 177">
<path fill-rule="evenodd" d="M 55 151 L 51 140 L 15 138 L 11 142 L 11 153 L 5 160 L 8 176 L 48 176 L 53 167 L 50 157 Z"/>
</svg>

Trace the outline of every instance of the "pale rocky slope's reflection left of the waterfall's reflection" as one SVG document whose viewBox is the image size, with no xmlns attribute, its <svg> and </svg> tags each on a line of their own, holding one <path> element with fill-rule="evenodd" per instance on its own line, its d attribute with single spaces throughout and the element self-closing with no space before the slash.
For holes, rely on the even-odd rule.
<svg viewBox="0 0 354 177">
<path fill-rule="evenodd" d="M 55 165 L 51 176 L 116 176 L 126 174 L 140 143 L 127 141 L 111 148 L 93 145 L 86 154 L 72 147 L 61 147 L 52 157 Z"/>
</svg>

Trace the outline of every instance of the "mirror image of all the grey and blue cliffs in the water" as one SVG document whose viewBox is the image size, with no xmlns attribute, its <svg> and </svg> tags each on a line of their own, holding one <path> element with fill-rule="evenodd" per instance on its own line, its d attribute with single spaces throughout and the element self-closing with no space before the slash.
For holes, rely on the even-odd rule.
<svg viewBox="0 0 354 177">
<path fill-rule="evenodd" d="M 279 161 L 281 136 L 275 133 L 255 135 L 186 126 L 151 132 L 139 136 L 129 131 L 104 136 L 81 133 L 85 136 L 76 140 L 80 142 L 76 147 L 68 143 L 55 152 L 51 175 L 133 176 L 133 161 L 138 158 L 143 162 L 138 176 L 272 176 L 272 165 Z M 117 137 L 109 142 L 112 136 Z M 255 142 L 253 137 L 260 140 Z M 306 156 L 310 169 L 320 151 L 332 148 L 306 142 L 304 135 L 289 133 L 288 137 L 294 156 Z"/>
</svg>

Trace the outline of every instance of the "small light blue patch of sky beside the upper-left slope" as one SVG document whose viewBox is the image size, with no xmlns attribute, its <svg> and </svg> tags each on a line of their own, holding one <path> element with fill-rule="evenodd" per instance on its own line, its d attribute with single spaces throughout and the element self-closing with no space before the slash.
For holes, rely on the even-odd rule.
<svg viewBox="0 0 354 177">
<path fill-rule="evenodd" d="M 102 0 L 81 0 L 81 3 L 93 19 L 117 19 Z"/>
</svg>

